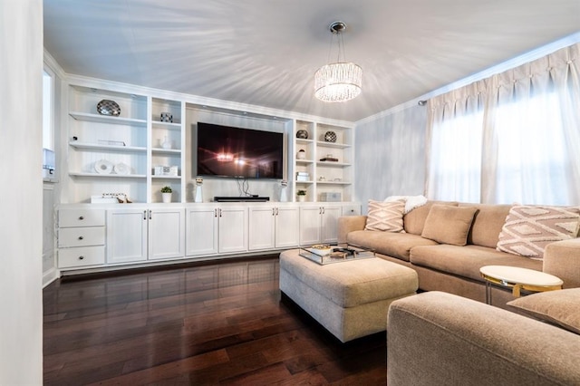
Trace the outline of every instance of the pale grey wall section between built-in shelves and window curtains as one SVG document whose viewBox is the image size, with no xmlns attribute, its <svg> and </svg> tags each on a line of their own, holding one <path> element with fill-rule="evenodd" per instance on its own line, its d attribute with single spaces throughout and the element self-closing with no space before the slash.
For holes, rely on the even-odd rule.
<svg viewBox="0 0 580 386">
<path fill-rule="evenodd" d="M 418 105 L 357 123 L 354 189 L 362 213 L 369 199 L 423 194 L 426 126 L 427 109 Z"/>
</svg>

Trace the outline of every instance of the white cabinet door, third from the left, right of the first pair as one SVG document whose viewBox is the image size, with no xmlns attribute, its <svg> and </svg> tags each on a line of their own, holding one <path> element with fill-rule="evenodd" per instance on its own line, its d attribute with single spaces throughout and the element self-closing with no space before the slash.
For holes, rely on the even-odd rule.
<svg viewBox="0 0 580 386">
<path fill-rule="evenodd" d="M 186 213 L 186 255 L 216 255 L 218 253 L 218 209 L 202 206 L 188 207 Z"/>
</svg>

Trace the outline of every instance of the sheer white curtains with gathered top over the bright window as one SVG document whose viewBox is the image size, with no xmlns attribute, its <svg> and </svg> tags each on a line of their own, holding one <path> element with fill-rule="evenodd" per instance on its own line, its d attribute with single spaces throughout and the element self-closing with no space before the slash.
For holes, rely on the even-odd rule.
<svg viewBox="0 0 580 386">
<path fill-rule="evenodd" d="M 579 64 L 580 44 L 575 44 L 430 101 L 427 196 L 579 205 Z M 476 97 L 478 109 L 445 113 L 450 101 L 457 105 Z M 461 135 L 442 137 L 456 125 L 479 143 Z M 455 158 L 449 152 L 454 149 L 469 159 Z M 469 165 L 469 178 L 461 176 L 457 170 L 466 168 L 457 163 Z"/>
</svg>

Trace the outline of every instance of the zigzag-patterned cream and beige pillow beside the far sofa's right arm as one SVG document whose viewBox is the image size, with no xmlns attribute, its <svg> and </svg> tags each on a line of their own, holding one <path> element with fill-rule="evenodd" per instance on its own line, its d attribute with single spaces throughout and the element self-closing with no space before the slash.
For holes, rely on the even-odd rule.
<svg viewBox="0 0 580 386">
<path fill-rule="evenodd" d="M 579 223 L 580 207 L 514 206 L 496 249 L 541 260 L 548 244 L 577 236 Z"/>
</svg>

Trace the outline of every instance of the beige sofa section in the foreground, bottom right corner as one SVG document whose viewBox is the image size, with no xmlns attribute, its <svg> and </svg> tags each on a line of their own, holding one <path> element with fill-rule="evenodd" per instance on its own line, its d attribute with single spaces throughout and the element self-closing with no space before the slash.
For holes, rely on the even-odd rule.
<svg viewBox="0 0 580 386">
<path fill-rule="evenodd" d="M 572 331 L 438 291 L 397 300 L 388 316 L 387 383 L 578 385 L 578 290 L 518 299 L 544 314 L 540 299 L 545 298 L 545 310 L 558 314 L 555 308 L 560 308 L 568 327 L 575 323 Z"/>
</svg>

